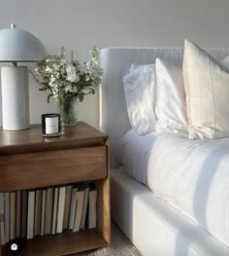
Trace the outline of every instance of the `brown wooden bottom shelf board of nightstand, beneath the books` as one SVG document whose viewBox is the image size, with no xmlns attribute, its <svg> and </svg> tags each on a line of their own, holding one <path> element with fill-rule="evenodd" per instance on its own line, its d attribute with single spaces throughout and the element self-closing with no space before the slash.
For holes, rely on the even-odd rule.
<svg viewBox="0 0 229 256">
<path fill-rule="evenodd" d="M 88 249 L 107 246 L 109 243 L 97 230 L 75 233 L 63 233 L 54 236 L 37 237 L 21 243 L 20 256 L 56 256 L 68 255 Z M 3 256 L 15 255 L 3 246 Z"/>
</svg>

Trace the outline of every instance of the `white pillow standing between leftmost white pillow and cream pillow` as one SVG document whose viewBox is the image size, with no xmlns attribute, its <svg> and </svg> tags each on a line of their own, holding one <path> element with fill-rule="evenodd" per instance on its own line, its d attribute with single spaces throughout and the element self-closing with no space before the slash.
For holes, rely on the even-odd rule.
<svg viewBox="0 0 229 256">
<path fill-rule="evenodd" d="M 187 116 L 182 69 L 156 59 L 156 125 L 159 132 L 187 134 Z"/>
</svg>

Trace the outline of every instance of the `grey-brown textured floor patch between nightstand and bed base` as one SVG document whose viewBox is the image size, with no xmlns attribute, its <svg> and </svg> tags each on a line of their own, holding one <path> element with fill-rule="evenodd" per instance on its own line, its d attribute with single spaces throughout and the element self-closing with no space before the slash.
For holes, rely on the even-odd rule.
<svg viewBox="0 0 229 256">
<path fill-rule="evenodd" d="M 112 224 L 112 243 L 106 248 L 74 254 L 76 256 L 142 256 L 139 250 Z"/>
</svg>

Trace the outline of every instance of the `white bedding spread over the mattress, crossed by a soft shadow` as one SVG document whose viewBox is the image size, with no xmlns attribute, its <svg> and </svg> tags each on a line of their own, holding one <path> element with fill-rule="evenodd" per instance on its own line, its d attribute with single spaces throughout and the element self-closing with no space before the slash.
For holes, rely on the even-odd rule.
<svg viewBox="0 0 229 256">
<path fill-rule="evenodd" d="M 129 130 L 119 150 L 128 175 L 229 246 L 229 138 L 188 140 Z"/>
</svg>

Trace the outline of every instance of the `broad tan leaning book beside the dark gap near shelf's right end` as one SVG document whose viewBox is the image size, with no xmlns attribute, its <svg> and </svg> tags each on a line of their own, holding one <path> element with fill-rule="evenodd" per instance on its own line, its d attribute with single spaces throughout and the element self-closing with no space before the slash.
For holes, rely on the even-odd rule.
<svg viewBox="0 0 229 256">
<path fill-rule="evenodd" d="M 84 198 L 84 189 L 79 189 L 77 191 L 77 205 L 76 205 L 73 232 L 78 232 L 80 231 L 80 228 L 81 228 L 83 198 Z"/>
</svg>

